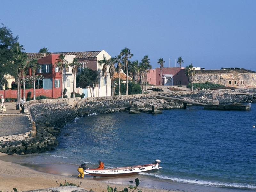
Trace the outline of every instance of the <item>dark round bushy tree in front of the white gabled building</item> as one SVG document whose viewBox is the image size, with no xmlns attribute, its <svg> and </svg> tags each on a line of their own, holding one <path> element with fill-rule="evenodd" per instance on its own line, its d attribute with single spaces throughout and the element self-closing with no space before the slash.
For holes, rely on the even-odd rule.
<svg viewBox="0 0 256 192">
<path fill-rule="evenodd" d="M 98 72 L 93 71 L 92 69 L 86 67 L 84 68 L 82 73 L 76 76 L 76 81 L 78 82 L 79 86 L 82 88 L 89 87 L 91 97 L 92 97 L 91 87 L 94 88 L 94 85 L 98 84 L 99 82 Z M 94 94 L 93 94 L 93 97 L 94 97 Z"/>
</svg>

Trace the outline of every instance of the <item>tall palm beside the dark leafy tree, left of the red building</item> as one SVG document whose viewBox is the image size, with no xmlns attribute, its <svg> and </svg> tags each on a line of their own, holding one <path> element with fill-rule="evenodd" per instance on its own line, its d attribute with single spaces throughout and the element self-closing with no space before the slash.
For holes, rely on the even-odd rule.
<svg viewBox="0 0 256 192">
<path fill-rule="evenodd" d="M 16 109 L 18 110 L 20 107 L 21 102 L 21 90 L 20 90 L 20 79 L 23 73 L 23 69 L 26 67 L 26 53 L 22 52 L 25 50 L 23 48 L 23 45 L 20 45 L 19 42 L 15 43 L 15 45 L 12 48 L 12 52 L 14 53 L 12 68 L 14 69 L 12 71 L 12 76 L 15 78 L 15 82 L 18 84 L 17 87 L 17 102 L 16 102 Z"/>
</svg>

